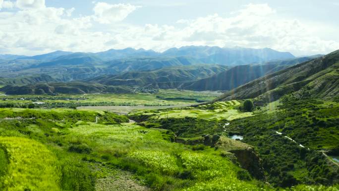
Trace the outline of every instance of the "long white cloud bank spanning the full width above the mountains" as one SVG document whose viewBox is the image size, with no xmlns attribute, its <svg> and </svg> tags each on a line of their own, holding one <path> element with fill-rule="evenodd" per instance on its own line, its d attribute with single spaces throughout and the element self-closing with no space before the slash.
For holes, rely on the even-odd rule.
<svg viewBox="0 0 339 191">
<path fill-rule="evenodd" d="M 0 2 L 3 7 L 4 1 Z M 248 4 L 230 16 L 212 14 L 181 19 L 173 25 L 139 26 L 120 22 L 138 7 L 131 4 L 95 2 L 93 15 L 75 17 L 74 8 L 46 7 L 43 0 L 25 2 L 16 12 L 0 11 L 0 54 L 99 52 L 126 47 L 164 51 L 186 45 L 269 47 L 296 55 L 339 49 L 338 41 L 321 38 L 328 27 L 281 18 L 267 4 Z"/>
</svg>

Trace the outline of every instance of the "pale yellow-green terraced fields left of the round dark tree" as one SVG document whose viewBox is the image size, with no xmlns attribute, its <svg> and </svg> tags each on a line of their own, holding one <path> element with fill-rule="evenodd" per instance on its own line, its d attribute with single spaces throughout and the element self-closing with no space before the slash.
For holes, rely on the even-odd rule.
<svg viewBox="0 0 339 191">
<path fill-rule="evenodd" d="M 239 105 L 240 103 L 238 101 L 232 100 L 199 105 L 197 107 L 136 111 L 131 112 L 129 115 L 152 115 L 152 119 L 192 117 L 207 120 L 226 119 L 228 121 L 253 115 L 251 112 L 239 112 L 239 110 L 236 109 Z"/>
</svg>

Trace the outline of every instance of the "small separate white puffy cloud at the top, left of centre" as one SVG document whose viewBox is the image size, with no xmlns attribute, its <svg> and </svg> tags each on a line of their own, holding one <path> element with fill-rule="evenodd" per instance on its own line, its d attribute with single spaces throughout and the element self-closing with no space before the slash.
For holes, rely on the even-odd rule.
<svg viewBox="0 0 339 191">
<path fill-rule="evenodd" d="M 122 21 L 137 7 L 138 6 L 134 6 L 131 4 L 109 4 L 106 2 L 97 2 L 93 8 L 94 19 L 100 23 L 105 24 Z"/>
</svg>

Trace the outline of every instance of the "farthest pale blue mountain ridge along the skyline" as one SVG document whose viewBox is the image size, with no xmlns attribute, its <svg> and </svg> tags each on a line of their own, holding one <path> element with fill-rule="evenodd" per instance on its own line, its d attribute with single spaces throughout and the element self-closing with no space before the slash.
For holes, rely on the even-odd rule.
<svg viewBox="0 0 339 191">
<path fill-rule="evenodd" d="M 36 56 L 23 56 L 23 55 L 0 55 L 0 59 L 6 60 L 40 60 L 40 61 L 51 61 L 60 56 L 71 55 L 73 52 L 66 51 L 55 51 L 47 54 L 36 55 Z M 164 52 L 156 52 L 153 50 L 145 49 L 110 49 L 104 52 L 98 53 L 85 53 L 88 55 L 99 57 L 104 61 L 131 58 L 131 57 L 194 57 L 206 60 L 210 57 L 217 57 L 216 55 L 224 56 L 238 56 L 241 57 L 254 57 L 251 60 L 259 62 L 258 60 L 269 61 L 276 59 L 288 59 L 294 58 L 294 56 L 288 52 L 279 52 L 270 48 L 263 49 L 251 49 L 251 48 L 221 48 L 221 47 L 210 47 L 210 46 L 183 46 L 180 48 L 170 48 Z M 225 62 L 225 61 L 224 61 Z M 248 61 L 249 62 L 249 61 Z M 247 63 L 251 64 L 251 63 Z"/>
</svg>

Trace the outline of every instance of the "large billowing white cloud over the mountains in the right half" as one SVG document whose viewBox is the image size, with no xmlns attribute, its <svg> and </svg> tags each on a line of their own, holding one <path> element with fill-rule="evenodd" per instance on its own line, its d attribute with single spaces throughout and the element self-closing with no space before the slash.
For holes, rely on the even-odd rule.
<svg viewBox="0 0 339 191">
<path fill-rule="evenodd" d="M 339 48 L 339 42 L 322 40 L 310 30 L 319 24 L 281 18 L 268 4 L 248 4 L 229 17 L 214 14 L 178 20 L 177 24 L 172 31 L 160 27 L 153 32 L 152 40 L 161 40 L 168 48 L 183 45 L 269 47 L 296 55 L 325 54 Z"/>
</svg>

